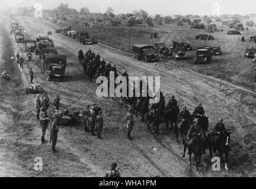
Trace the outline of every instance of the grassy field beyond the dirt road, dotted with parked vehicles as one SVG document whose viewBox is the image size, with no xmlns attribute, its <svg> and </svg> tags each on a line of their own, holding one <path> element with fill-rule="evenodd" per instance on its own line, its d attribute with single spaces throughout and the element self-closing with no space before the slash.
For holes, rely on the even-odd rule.
<svg viewBox="0 0 256 189">
<path fill-rule="evenodd" d="M 97 39 L 100 43 L 132 53 L 132 50 L 129 50 L 129 27 L 127 27 L 125 20 L 122 21 L 119 27 L 113 27 L 110 24 L 95 24 L 94 29 L 83 27 L 82 22 L 84 22 L 82 19 L 68 18 L 63 22 L 62 27 L 65 25 L 67 27 L 71 26 L 72 30 L 75 31 L 88 31 L 89 35 Z M 205 30 L 191 29 L 188 24 L 178 26 L 175 23 L 164 25 L 154 23 L 154 25 L 155 27 L 153 28 L 148 28 L 145 23 L 131 27 L 130 48 L 132 48 L 133 44 L 153 44 L 161 41 L 169 46 L 173 40 L 184 41 L 193 46 L 193 51 L 187 52 L 188 60 L 174 61 L 172 58 L 162 58 L 162 61 L 228 80 L 229 82 L 248 87 L 249 89 L 256 89 L 254 84 L 255 64 L 251 59 L 244 58 L 245 48 L 254 44 L 240 42 L 241 36 L 244 36 L 248 40 L 249 35 L 254 35 L 255 28 L 249 28 L 249 31 L 242 31 L 242 35 L 227 35 L 226 33 L 231 29 L 218 22 L 217 26 L 223 32 L 211 34 L 215 37 L 214 41 L 203 41 L 194 40 L 194 36 L 207 32 Z M 158 32 L 161 38 L 151 39 L 152 32 Z M 194 65 L 193 57 L 196 54 L 194 50 L 204 45 L 220 45 L 223 55 L 214 56 L 212 64 Z"/>
</svg>

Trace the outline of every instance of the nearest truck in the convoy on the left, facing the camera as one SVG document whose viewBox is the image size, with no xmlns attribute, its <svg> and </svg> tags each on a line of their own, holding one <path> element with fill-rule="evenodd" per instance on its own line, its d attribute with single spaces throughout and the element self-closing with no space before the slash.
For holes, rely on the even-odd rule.
<svg viewBox="0 0 256 189">
<path fill-rule="evenodd" d="M 46 56 L 44 75 L 46 80 L 65 80 L 66 56 L 49 54 Z"/>
</svg>

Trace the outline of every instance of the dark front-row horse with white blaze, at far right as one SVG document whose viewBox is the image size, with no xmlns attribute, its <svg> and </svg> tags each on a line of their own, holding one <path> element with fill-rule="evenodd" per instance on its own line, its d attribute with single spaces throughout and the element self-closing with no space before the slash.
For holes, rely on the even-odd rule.
<svg viewBox="0 0 256 189">
<path fill-rule="evenodd" d="M 213 154 L 216 157 L 216 151 L 219 152 L 219 156 L 225 163 L 225 170 L 228 171 L 228 154 L 230 151 L 231 132 L 221 132 L 219 135 L 213 135 L 209 133 L 207 135 L 207 143 L 209 145 L 209 152 L 211 162 L 213 162 Z M 225 154 L 225 158 L 223 158 Z"/>
</svg>

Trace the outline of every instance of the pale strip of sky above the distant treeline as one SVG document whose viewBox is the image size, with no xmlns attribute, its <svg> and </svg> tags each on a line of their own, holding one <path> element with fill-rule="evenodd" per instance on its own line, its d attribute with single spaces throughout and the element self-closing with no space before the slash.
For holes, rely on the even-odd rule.
<svg viewBox="0 0 256 189">
<path fill-rule="evenodd" d="M 65 2 L 69 4 L 69 8 L 76 8 L 78 11 L 87 6 L 90 12 L 105 12 L 110 6 L 114 9 L 114 14 L 143 9 L 150 15 L 212 15 L 212 12 L 217 11 L 217 7 L 220 14 L 256 13 L 255 0 L 0 0 L 0 8 L 15 5 L 33 6 L 37 2 L 41 3 L 44 9 L 55 8 Z M 216 6 L 216 3 L 219 6 Z"/>
</svg>

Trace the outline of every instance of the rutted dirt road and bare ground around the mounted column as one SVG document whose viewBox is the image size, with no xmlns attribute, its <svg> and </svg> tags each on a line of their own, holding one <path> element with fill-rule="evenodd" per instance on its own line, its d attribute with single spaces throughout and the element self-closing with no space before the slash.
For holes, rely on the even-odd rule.
<svg viewBox="0 0 256 189">
<path fill-rule="evenodd" d="M 11 43 L 9 51 L 24 51 L 24 44 L 9 38 L 9 24 L 1 30 L 4 43 Z M 20 24 L 30 37 L 45 35 L 53 28 L 35 18 L 20 18 Z M 68 81 L 47 82 L 41 75 L 38 56 L 26 63 L 24 69 L 17 64 L 8 64 L 12 69 L 12 79 L 8 84 L 1 80 L 1 156 L 0 174 L 7 176 L 39 177 L 101 177 L 110 163 L 116 161 L 123 177 L 225 177 L 255 175 L 255 96 L 203 74 L 196 73 L 167 63 L 146 64 L 126 56 L 119 51 L 100 45 L 79 45 L 76 40 L 53 34 L 52 39 L 59 54 L 68 57 Z M 100 53 L 101 58 L 116 64 L 121 72 L 127 70 L 131 76 L 161 76 L 161 90 L 166 92 L 168 100 L 174 94 L 180 105 L 189 110 L 203 103 L 206 115 L 210 118 L 210 128 L 222 117 L 226 127 L 232 131 L 232 152 L 229 157 L 229 172 L 213 172 L 208 152 L 203 156 L 200 173 L 188 165 L 188 158 L 182 158 L 181 144 L 175 142 L 174 133 L 161 126 L 160 139 L 156 139 L 145 125 L 136 120 L 133 131 L 135 139 L 126 138 L 124 115 L 127 107 L 116 98 L 98 98 L 95 95 L 96 84 L 89 83 L 76 54 L 91 48 Z M 1 53 L 4 52 L 1 47 Z M 23 53 L 23 55 L 25 55 Z M 10 56 L 6 55 L 5 59 Z M 13 56 L 13 55 L 12 55 Z M 1 70 L 5 68 L 1 64 Z M 50 99 L 56 93 L 61 95 L 61 109 L 82 110 L 85 105 L 97 102 L 104 109 L 104 140 L 98 140 L 80 127 L 60 126 L 57 142 L 57 154 L 53 156 L 50 145 L 40 144 L 40 126 L 36 120 L 33 94 L 24 95 L 19 89 L 28 85 L 28 68 L 33 67 L 34 82 L 41 83 L 49 93 Z M 2 82 L 5 82 L 2 84 Z M 16 85 L 16 86 L 15 86 Z M 3 87 L 3 88 L 2 88 Z M 5 88 L 7 87 L 7 88 Z M 51 106 L 50 112 L 53 111 Z M 4 121 L 3 121 L 4 120 Z M 49 131 L 46 133 L 49 138 Z M 43 171 L 34 171 L 34 158 L 43 159 Z"/>
</svg>

